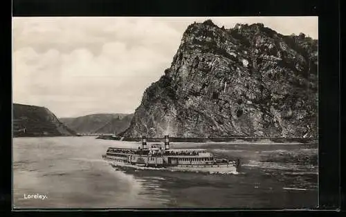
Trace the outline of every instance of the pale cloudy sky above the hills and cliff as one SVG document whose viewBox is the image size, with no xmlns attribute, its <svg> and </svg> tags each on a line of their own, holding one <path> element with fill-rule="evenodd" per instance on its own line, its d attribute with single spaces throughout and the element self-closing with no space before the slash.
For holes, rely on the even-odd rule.
<svg viewBox="0 0 346 217">
<path fill-rule="evenodd" d="M 13 102 L 57 117 L 133 113 L 170 67 L 187 26 L 206 19 L 318 39 L 317 17 L 15 17 Z"/>
</svg>

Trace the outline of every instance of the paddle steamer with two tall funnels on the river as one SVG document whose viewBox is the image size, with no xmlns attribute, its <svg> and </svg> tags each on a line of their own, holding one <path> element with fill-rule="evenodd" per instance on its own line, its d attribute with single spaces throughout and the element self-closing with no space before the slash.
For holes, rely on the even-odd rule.
<svg viewBox="0 0 346 217">
<path fill-rule="evenodd" d="M 217 159 L 206 149 L 170 149 L 168 135 L 165 135 L 164 144 L 148 145 L 143 136 L 138 149 L 109 147 L 102 158 L 113 166 L 230 173 L 239 170 L 239 160 Z"/>
</svg>

